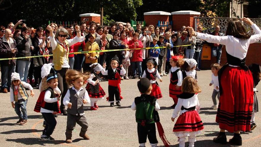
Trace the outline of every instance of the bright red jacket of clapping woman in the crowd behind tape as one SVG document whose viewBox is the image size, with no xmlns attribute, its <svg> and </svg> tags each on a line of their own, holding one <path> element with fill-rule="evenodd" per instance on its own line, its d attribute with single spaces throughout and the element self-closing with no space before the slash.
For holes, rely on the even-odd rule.
<svg viewBox="0 0 261 147">
<path fill-rule="evenodd" d="M 134 48 L 134 43 L 136 41 L 134 41 L 133 39 L 129 41 L 129 49 L 133 49 Z M 139 41 L 139 45 L 136 46 L 136 48 L 143 48 L 143 43 L 141 41 Z M 142 50 L 133 50 L 132 53 L 132 58 L 130 59 L 131 62 L 138 62 L 138 61 L 142 61 Z"/>
</svg>

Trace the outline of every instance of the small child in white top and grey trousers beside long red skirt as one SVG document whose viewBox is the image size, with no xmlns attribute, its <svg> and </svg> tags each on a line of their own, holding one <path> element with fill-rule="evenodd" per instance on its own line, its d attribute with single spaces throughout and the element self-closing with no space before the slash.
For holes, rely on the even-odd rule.
<svg viewBox="0 0 261 147">
<path fill-rule="evenodd" d="M 218 63 L 211 64 L 211 81 L 209 83 L 209 86 L 214 86 L 214 90 L 212 92 L 212 101 L 213 106 L 211 106 L 211 109 L 217 109 L 217 99 L 219 100 L 219 83 L 218 83 L 218 71 L 221 69 L 221 66 Z M 217 97 L 217 99 L 216 99 Z"/>
</svg>

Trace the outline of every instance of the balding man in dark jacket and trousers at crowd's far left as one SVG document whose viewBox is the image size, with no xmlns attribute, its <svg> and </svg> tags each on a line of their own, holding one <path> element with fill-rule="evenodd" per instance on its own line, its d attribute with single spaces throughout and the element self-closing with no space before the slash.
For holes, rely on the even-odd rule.
<svg viewBox="0 0 261 147">
<path fill-rule="evenodd" d="M 4 37 L 0 38 L 0 58 L 15 58 L 17 53 L 16 43 L 12 39 L 12 31 L 5 29 Z M 11 86 L 11 74 L 15 72 L 16 60 L 2 60 L 1 64 L 1 89 L 8 93 Z"/>
</svg>

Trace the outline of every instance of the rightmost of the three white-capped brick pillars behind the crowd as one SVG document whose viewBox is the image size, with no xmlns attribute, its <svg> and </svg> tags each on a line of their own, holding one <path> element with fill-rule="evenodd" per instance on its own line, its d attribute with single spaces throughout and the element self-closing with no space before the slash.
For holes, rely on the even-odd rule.
<svg viewBox="0 0 261 147">
<path fill-rule="evenodd" d="M 177 11 L 171 12 L 173 30 L 180 31 L 182 26 L 191 26 L 195 28 L 194 17 L 199 17 L 200 12 L 195 11 Z"/>
</svg>

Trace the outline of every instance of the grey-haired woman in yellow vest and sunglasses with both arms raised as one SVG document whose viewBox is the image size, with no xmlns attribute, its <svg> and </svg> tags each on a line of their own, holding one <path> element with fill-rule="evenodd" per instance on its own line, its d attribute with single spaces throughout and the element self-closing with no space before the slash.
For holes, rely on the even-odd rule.
<svg viewBox="0 0 261 147">
<path fill-rule="evenodd" d="M 84 41 L 85 38 L 81 36 L 79 26 L 75 26 L 77 36 L 73 39 L 66 39 L 68 38 L 69 33 L 64 28 L 57 29 L 57 31 L 55 32 L 55 36 L 50 25 L 47 26 L 47 29 L 50 31 L 50 42 L 53 53 L 52 66 L 55 69 L 55 72 L 57 72 L 58 88 L 61 90 L 61 102 L 63 102 L 63 97 L 65 96 L 69 88 L 69 85 L 66 83 L 65 80 L 65 73 L 67 69 L 70 68 L 68 63 L 69 47 L 77 42 Z M 63 103 L 61 103 L 60 110 L 63 115 L 67 115 Z"/>
</svg>

